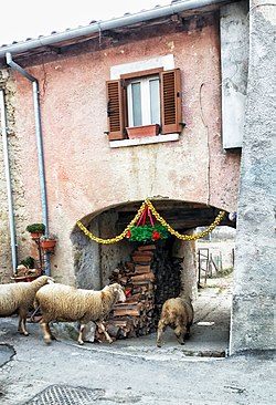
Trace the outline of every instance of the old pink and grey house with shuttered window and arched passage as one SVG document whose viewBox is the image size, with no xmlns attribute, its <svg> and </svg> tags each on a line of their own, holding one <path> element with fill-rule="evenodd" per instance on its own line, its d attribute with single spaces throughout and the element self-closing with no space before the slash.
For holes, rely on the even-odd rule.
<svg viewBox="0 0 276 405">
<path fill-rule="evenodd" d="M 92 241 L 77 219 L 113 238 L 149 198 L 191 235 L 224 210 L 237 229 L 231 353 L 275 349 L 274 34 L 269 1 L 195 0 L 2 45 L 2 282 L 32 251 L 32 222 L 57 236 L 45 271 L 98 289 L 134 246 Z M 148 124 L 157 134 L 128 136 Z M 193 242 L 160 246 L 191 293 Z"/>
</svg>

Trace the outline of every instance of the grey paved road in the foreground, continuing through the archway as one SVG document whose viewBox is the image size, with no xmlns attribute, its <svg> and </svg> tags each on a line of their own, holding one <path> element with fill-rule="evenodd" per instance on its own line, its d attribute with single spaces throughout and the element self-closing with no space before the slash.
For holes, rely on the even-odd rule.
<svg viewBox="0 0 276 405">
<path fill-rule="evenodd" d="M 230 307 L 229 285 L 201 289 L 190 340 L 179 345 L 168 330 L 160 349 L 156 334 L 84 346 L 60 338 L 45 345 L 38 324 L 28 324 L 25 338 L 15 318 L 0 319 L 0 404 L 272 405 L 273 355 L 221 356 Z"/>
</svg>

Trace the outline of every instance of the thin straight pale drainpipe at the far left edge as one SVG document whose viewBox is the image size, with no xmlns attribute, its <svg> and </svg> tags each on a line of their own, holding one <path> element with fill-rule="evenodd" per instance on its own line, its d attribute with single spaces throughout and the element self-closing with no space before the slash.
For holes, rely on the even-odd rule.
<svg viewBox="0 0 276 405">
<path fill-rule="evenodd" d="M 6 115 L 3 90 L 0 90 L 0 110 L 1 110 L 1 125 L 2 125 L 2 138 L 3 138 L 4 173 L 6 173 L 8 205 L 9 205 L 12 271 L 13 271 L 13 274 L 14 274 L 17 272 L 17 267 L 18 267 L 17 236 L 15 236 L 15 226 L 14 226 L 14 216 L 13 216 L 12 191 L 11 191 L 11 175 L 10 175 L 10 162 L 9 162 L 9 147 L 8 147 L 8 135 L 7 135 L 7 115 Z"/>
</svg>

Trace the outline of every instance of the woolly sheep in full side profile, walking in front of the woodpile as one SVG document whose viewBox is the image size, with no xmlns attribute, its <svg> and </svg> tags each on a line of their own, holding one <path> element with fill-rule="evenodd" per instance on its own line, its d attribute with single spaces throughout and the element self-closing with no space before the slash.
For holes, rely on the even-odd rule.
<svg viewBox="0 0 276 405">
<path fill-rule="evenodd" d="M 79 322 L 77 343 L 84 344 L 83 334 L 85 325 L 94 321 L 106 340 L 113 339 L 104 326 L 104 319 L 117 302 L 125 302 L 124 288 L 118 283 L 106 285 L 103 290 L 83 290 L 65 284 L 44 285 L 35 295 L 35 305 L 40 307 L 42 319 L 40 321 L 44 342 L 51 343 L 55 339 L 50 330 L 49 322 Z"/>
</svg>

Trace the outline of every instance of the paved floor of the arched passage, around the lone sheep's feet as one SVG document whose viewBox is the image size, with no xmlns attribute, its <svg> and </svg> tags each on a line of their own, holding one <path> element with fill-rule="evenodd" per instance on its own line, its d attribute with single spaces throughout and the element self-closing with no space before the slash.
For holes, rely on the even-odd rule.
<svg viewBox="0 0 276 405">
<path fill-rule="evenodd" d="M 164 344 L 156 347 L 156 333 L 139 339 L 116 341 L 113 347 L 125 353 L 146 353 L 147 356 L 174 359 L 180 356 L 223 357 L 229 351 L 231 315 L 231 277 L 208 280 L 199 290 L 193 302 L 194 323 L 191 336 L 184 345 L 179 345 L 171 329 L 164 332 Z M 100 344 L 104 350 L 107 344 Z"/>
</svg>

